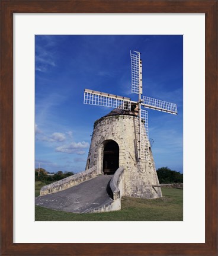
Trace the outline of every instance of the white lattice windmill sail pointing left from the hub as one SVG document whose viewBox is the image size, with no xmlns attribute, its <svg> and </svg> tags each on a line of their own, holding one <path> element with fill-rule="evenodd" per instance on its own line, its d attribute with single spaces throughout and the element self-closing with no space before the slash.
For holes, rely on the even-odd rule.
<svg viewBox="0 0 218 256">
<path fill-rule="evenodd" d="M 84 104 L 131 110 L 130 98 L 108 94 L 105 92 L 92 91 L 91 89 L 85 89 L 84 91 Z"/>
</svg>

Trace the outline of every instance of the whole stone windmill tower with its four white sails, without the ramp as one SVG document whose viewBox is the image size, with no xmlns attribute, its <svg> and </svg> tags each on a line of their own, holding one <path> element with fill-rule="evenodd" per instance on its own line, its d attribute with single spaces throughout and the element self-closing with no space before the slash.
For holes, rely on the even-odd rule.
<svg viewBox="0 0 218 256">
<path fill-rule="evenodd" d="M 97 167 L 99 175 L 114 174 L 124 167 L 124 196 L 162 197 L 148 139 L 148 111 L 141 107 L 177 114 L 177 106 L 150 97 L 142 98 L 142 60 L 131 52 L 132 92 L 138 101 L 85 89 L 84 104 L 112 107 L 95 121 L 86 169 Z"/>
</svg>

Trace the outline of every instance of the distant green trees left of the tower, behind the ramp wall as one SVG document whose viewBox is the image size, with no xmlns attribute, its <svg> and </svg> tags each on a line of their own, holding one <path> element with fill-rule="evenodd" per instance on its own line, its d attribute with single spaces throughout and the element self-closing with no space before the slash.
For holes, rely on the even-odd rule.
<svg viewBox="0 0 218 256">
<path fill-rule="evenodd" d="M 41 181 L 41 183 L 50 184 L 54 181 L 62 180 L 63 178 L 69 177 L 73 175 L 73 172 L 62 172 L 58 171 L 55 174 L 51 174 L 47 172 L 43 168 L 36 168 L 35 169 L 35 181 Z"/>
</svg>

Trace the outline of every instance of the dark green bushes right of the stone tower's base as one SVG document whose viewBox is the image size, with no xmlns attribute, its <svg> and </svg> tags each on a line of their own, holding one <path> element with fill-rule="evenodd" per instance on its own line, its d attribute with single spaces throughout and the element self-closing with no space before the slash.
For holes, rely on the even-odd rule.
<svg viewBox="0 0 218 256">
<path fill-rule="evenodd" d="M 168 167 L 161 167 L 156 172 L 160 184 L 183 183 L 183 174 L 172 171 Z"/>
</svg>

